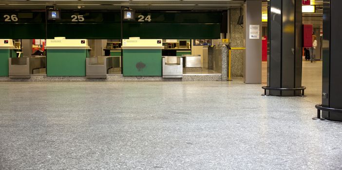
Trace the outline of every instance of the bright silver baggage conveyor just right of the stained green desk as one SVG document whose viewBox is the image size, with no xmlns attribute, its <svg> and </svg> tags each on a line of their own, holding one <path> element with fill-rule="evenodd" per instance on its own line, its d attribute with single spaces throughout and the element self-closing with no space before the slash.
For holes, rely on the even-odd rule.
<svg viewBox="0 0 342 170">
<path fill-rule="evenodd" d="M 163 78 L 182 78 L 183 59 L 179 56 L 163 56 Z"/>
</svg>

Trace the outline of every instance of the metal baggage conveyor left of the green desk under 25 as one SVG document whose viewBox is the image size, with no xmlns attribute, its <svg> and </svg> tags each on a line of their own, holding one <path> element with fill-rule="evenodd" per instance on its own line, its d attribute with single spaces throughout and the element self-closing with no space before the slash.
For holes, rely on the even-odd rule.
<svg viewBox="0 0 342 170">
<path fill-rule="evenodd" d="M 9 58 L 9 77 L 10 78 L 30 78 L 35 70 L 45 68 L 45 56 L 27 56 L 19 58 Z"/>
</svg>

